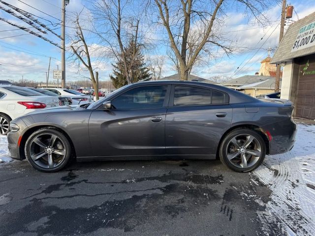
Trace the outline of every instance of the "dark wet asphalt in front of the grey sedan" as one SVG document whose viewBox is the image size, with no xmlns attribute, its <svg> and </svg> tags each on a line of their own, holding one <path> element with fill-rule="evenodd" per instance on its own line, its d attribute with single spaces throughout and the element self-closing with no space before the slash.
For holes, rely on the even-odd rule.
<svg viewBox="0 0 315 236">
<path fill-rule="evenodd" d="M 254 180 L 254 181 L 253 181 Z M 220 161 L 0 165 L 0 236 L 281 235 L 261 222 L 271 191 Z"/>
</svg>

